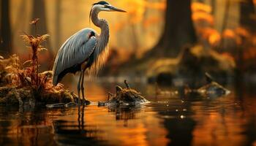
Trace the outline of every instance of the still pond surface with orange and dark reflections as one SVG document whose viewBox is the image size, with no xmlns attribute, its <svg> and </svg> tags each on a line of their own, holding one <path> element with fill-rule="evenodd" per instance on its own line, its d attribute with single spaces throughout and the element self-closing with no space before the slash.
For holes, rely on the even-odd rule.
<svg viewBox="0 0 256 146">
<path fill-rule="evenodd" d="M 86 96 L 105 101 L 115 85 L 86 82 Z M 91 104 L 80 113 L 78 107 L 0 107 L 0 145 L 256 145 L 253 94 L 231 90 L 217 99 L 188 100 L 170 89 L 156 96 L 154 86 L 130 85 L 151 103 L 118 109 Z"/>
</svg>

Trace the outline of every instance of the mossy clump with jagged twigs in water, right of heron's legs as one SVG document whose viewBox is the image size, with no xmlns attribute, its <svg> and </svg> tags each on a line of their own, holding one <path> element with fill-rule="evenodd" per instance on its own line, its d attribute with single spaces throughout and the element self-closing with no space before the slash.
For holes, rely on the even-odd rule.
<svg viewBox="0 0 256 146">
<path fill-rule="evenodd" d="M 121 88 L 116 85 L 116 94 L 109 93 L 108 101 L 99 101 L 98 106 L 128 106 L 146 104 L 149 102 L 141 95 L 141 93 L 135 91 L 135 89 L 129 88 L 127 80 L 124 80 L 124 84 L 126 85 L 126 88 Z"/>
</svg>

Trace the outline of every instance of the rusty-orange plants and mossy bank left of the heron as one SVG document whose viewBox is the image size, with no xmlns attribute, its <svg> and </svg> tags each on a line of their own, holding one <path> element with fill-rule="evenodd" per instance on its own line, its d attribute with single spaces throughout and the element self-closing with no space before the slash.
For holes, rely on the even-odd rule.
<svg viewBox="0 0 256 146">
<path fill-rule="evenodd" d="M 39 18 L 31 21 L 37 34 Z M 39 72 L 39 52 L 47 50 L 41 44 L 48 34 L 36 36 L 24 33 L 23 41 L 31 50 L 31 59 L 20 61 L 18 55 L 10 58 L 0 56 L 0 104 L 56 104 L 78 101 L 78 96 L 64 88 L 64 85 L 52 85 L 52 71 Z"/>
</svg>

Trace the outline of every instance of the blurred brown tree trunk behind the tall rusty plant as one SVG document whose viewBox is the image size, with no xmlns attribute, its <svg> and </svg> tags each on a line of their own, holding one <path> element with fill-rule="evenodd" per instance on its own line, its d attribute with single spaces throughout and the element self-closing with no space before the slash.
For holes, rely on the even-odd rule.
<svg viewBox="0 0 256 146">
<path fill-rule="evenodd" d="M 32 10 L 32 19 L 39 18 L 39 23 L 37 23 L 37 34 L 48 34 L 48 26 L 46 21 L 46 11 L 45 11 L 45 1 L 44 0 L 34 0 Z M 31 34 L 37 35 L 34 26 L 31 27 Z M 53 58 L 53 50 L 51 49 L 50 41 L 48 40 L 43 44 L 50 53 L 50 58 Z"/>
</svg>

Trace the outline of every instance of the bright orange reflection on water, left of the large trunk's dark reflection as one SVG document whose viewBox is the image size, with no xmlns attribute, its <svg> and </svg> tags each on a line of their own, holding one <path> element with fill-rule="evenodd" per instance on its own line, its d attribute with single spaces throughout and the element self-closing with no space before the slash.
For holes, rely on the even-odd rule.
<svg viewBox="0 0 256 146">
<path fill-rule="evenodd" d="M 167 145 L 167 131 L 161 126 L 156 112 L 112 111 L 95 105 L 85 107 L 84 127 L 86 131 L 97 131 L 97 139 L 108 140 L 110 145 Z M 78 114 L 67 115 L 59 120 L 76 121 Z M 74 123 L 67 123 L 74 124 Z M 83 127 L 83 126 L 81 126 Z M 91 129 L 89 129 L 91 128 Z M 91 137 L 91 135 L 86 135 Z M 56 138 L 58 139 L 58 138 Z"/>
</svg>

